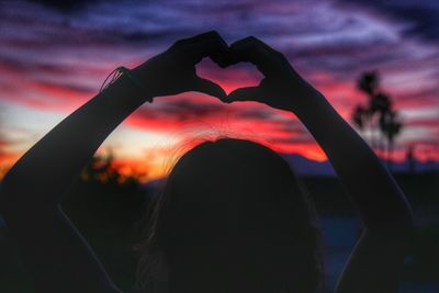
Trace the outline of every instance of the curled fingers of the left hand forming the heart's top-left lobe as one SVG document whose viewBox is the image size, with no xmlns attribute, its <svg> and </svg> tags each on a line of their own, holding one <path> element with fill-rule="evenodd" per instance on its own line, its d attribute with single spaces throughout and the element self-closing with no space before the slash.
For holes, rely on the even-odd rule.
<svg viewBox="0 0 439 293">
<path fill-rule="evenodd" d="M 215 31 L 182 40 L 183 50 L 194 64 L 210 57 L 221 67 L 229 64 L 230 52 L 227 43 Z"/>
</svg>

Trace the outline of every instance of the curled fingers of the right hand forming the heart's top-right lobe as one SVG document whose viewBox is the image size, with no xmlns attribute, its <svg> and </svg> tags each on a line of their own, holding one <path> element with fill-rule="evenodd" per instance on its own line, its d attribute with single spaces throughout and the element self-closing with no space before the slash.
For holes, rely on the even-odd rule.
<svg viewBox="0 0 439 293">
<path fill-rule="evenodd" d="M 273 71 L 273 66 L 281 53 L 274 50 L 255 36 L 239 40 L 230 45 L 233 63 L 249 61 L 264 75 Z"/>
</svg>

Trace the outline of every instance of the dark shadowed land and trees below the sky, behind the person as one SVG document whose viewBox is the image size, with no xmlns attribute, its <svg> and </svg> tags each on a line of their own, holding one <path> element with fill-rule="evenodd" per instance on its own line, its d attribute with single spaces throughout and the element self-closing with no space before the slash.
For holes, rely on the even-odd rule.
<svg viewBox="0 0 439 293">
<path fill-rule="evenodd" d="M 306 162 L 306 159 L 293 156 L 290 161 L 299 167 L 297 164 Z M 89 240 L 116 284 L 130 292 L 138 258 L 135 246 L 140 239 L 139 230 L 145 224 L 142 224 L 142 216 L 162 180 L 147 184 L 134 179 L 121 180 L 122 176 L 112 170 L 110 165 L 105 165 L 104 158 L 97 157 L 93 164 L 65 194 L 63 209 Z M 439 172 L 402 171 L 395 178 L 414 209 L 416 227 L 414 245 L 405 260 L 401 292 L 437 292 L 439 290 L 437 249 Z M 320 216 L 327 292 L 333 292 L 336 279 L 358 239 L 361 225 L 354 214 L 354 207 L 334 176 L 308 173 L 302 174 L 301 180 L 315 201 Z M 20 256 L 7 236 L 2 225 L 0 288 L 8 293 L 32 292 Z"/>
</svg>

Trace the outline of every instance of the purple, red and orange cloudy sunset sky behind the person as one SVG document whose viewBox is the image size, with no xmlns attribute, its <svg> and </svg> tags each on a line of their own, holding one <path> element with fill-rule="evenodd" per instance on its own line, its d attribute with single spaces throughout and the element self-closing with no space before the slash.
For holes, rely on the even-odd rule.
<svg viewBox="0 0 439 293">
<path fill-rule="evenodd" d="M 132 68 L 178 38 L 210 30 L 229 43 L 255 35 L 284 53 L 348 121 L 353 108 L 367 102 L 356 80 L 376 70 L 405 125 L 395 158 L 415 144 L 419 159 L 439 160 L 439 1 L 19 0 L 0 5 L 3 171 L 95 95 L 115 67 Z M 227 92 L 261 79 L 249 65 L 221 69 L 204 60 L 198 71 Z M 154 179 L 184 146 L 217 135 L 325 159 L 292 113 L 250 102 L 226 105 L 193 92 L 145 104 L 101 151 L 111 149 L 124 172 Z"/>
</svg>

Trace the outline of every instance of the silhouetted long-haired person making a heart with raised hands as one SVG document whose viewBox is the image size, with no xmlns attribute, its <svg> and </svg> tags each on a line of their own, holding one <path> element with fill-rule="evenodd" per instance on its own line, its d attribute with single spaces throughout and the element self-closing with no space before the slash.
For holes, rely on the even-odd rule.
<svg viewBox="0 0 439 293">
<path fill-rule="evenodd" d="M 222 67 L 255 64 L 258 87 L 228 97 L 195 75 L 210 56 Z M 408 247 L 407 201 L 369 146 L 286 58 L 255 37 L 229 47 L 215 33 L 178 41 L 123 75 L 33 146 L 1 185 L 1 209 L 36 292 L 121 292 L 59 200 L 105 137 L 153 97 L 201 91 L 224 102 L 258 101 L 293 112 L 323 147 L 363 222 L 336 292 L 397 292 Z M 323 269 L 314 209 L 275 153 L 232 138 L 206 142 L 170 172 L 139 261 L 142 292 L 319 292 Z"/>
</svg>

